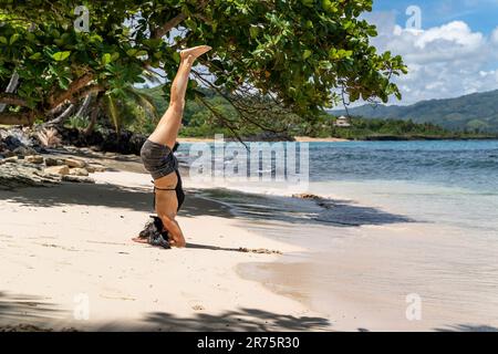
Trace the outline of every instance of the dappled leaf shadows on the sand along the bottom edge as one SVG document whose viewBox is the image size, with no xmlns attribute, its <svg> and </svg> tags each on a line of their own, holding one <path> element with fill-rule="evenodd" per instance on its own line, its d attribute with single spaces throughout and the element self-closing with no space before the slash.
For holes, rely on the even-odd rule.
<svg viewBox="0 0 498 354">
<path fill-rule="evenodd" d="M 61 324 L 70 327 L 60 327 Z M 225 311 L 220 314 L 198 312 L 190 317 L 179 317 L 165 312 L 146 313 L 131 323 L 110 321 L 85 323 L 92 331 L 324 331 L 330 322 L 322 317 L 292 316 L 256 309 Z M 0 292 L 1 331 L 68 331 L 82 330 L 72 313 L 58 310 L 43 298 Z"/>
</svg>

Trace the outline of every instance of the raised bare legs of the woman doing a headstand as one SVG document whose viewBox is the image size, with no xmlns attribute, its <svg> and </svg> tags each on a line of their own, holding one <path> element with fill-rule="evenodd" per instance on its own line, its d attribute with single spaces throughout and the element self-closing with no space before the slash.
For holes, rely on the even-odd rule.
<svg viewBox="0 0 498 354">
<path fill-rule="evenodd" d="M 188 76 L 195 60 L 208 52 L 208 45 L 195 46 L 180 52 L 181 62 L 178 73 L 172 84 L 169 107 L 157 124 L 154 133 L 148 137 L 151 142 L 163 144 L 173 149 L 181 126 L 185 108 L 185 93 L 187 92 Z"/>
</svg>

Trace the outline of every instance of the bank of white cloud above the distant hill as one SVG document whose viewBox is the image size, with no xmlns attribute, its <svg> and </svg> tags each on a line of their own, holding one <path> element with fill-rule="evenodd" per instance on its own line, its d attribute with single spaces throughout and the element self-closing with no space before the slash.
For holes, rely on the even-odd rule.
<svg viewBox="0 0 498 354">
<path fill-rule="evenodd" d="M 498 28 L 488 37 L 463 21 L 414 31 L 393 25 L 386 14 L 382 19 L 370 17 L 380 33 L 372 43 L 401 54 L 409 70 L 396 79 L 401 104 L 498 88 Z"/>
</svg>

